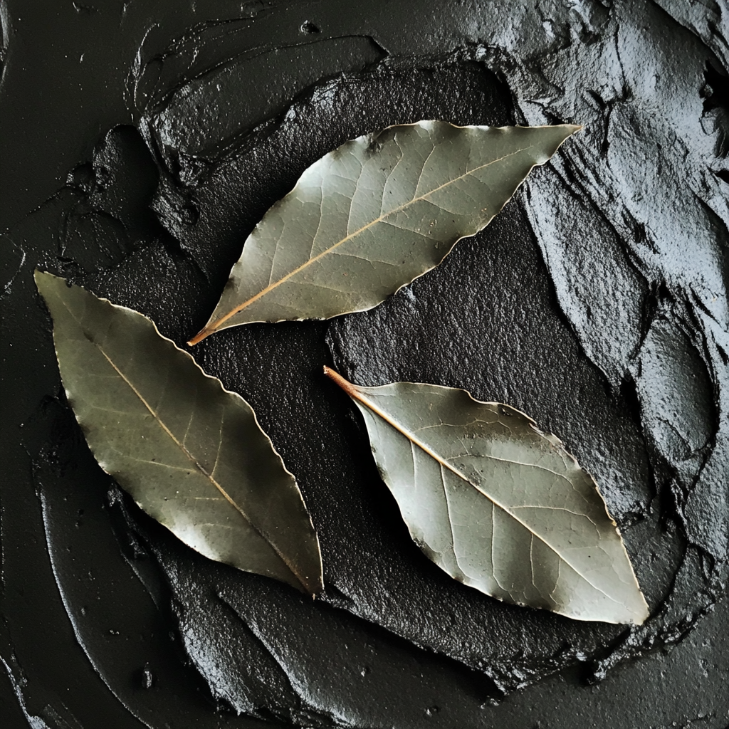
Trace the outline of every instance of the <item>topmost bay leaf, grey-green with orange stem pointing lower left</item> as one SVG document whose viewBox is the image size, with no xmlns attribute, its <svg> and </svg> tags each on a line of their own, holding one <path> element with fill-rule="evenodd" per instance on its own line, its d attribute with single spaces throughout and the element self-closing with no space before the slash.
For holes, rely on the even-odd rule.
<svg viewBox="0 0 729 729">
<path fill-rule="evenodd" d="M 422 121 L 346 142 L 268 210 L 189 343 L 252 321 L 373 308 L 486 227 L 578 129 Z"/>
</svg>

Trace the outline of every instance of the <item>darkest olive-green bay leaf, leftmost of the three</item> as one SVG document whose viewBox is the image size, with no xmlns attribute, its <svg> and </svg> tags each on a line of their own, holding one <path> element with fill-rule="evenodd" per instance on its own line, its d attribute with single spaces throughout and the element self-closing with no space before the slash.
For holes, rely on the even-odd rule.
<svg viewBox="0 0 729 729">
<path fill-rule="evenodd" d="M 36 271 L 63 386 L 101 467 L 211 559 L 314 595 L 319 540 L 251 406 L 146 316 Z"/>
</svg>

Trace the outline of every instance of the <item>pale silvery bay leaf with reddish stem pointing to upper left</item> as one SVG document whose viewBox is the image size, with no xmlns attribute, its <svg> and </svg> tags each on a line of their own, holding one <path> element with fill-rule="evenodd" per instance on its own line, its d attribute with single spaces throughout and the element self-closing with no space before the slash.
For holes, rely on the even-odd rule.
<svg viewBox="0 0 729 729">
<path fill-rule="evenodd" d="M 646 620 L 620 531 L 557 437 L 465 390 L 324 371 L 362 411 L 411 537 L 451 577 L 577 620 Z"/>
</svg>

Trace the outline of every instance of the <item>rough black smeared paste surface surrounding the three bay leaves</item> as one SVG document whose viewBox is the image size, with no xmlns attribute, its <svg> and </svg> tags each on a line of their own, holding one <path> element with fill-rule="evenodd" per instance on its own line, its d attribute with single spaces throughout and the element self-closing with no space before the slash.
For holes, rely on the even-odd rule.
<svg viewBox="0 0 729 729">
<path fill-rule="evenodd" d="M 729 724 L 726 7 L 484 1 L 445 17 L 253 1 L 211 19 L 73 3 L 58 4 L 51 43 L 37 5 L 0 4 L 0 655 L 28 722 Z M 30 80 L 55 115 L 34 113 Z M 184 341 L 306 166 L 423 118 L 585 130 L 380 307 L 238 327 L 194 352 L 297 475 L 324 555 L 311 603 L 201 558 L 101 472 L 31 273 L 61 273 Z M 620 523 L 651 620 L 577 623 L 440 572 L 324 381 L 332 363 L 358 383 L 461 386 L 558 434 Z"/>
</svg>

